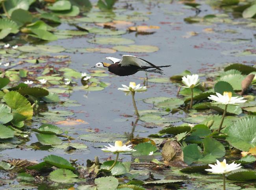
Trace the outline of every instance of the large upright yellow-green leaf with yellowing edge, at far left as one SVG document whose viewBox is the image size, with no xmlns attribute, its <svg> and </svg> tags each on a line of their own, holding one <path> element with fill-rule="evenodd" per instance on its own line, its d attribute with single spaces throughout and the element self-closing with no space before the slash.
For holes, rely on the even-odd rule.
<svg viewBox="0 0 256 190">
<path fill-rule="evenodd" d="M 32 119 L 33 108 L 30 102 L 16 91 L 10 91 L 4 95 L 6 104 L 12 109 L 13 113 L 19 113 Z"/>
</svg>

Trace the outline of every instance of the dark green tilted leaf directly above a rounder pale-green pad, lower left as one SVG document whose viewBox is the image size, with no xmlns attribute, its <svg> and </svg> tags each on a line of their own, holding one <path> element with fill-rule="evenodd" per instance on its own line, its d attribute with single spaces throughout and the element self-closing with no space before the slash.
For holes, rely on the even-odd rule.
<svg viewBox="0 0 256 190">
<path fill-rule="evenodd" d="M 47 157 L 44 158 L 44 161 L 57 168 L 75 170 L 75 168 L 69 163 L 69 161 L 60 156 L 48 155 Z"/>
</svg>

